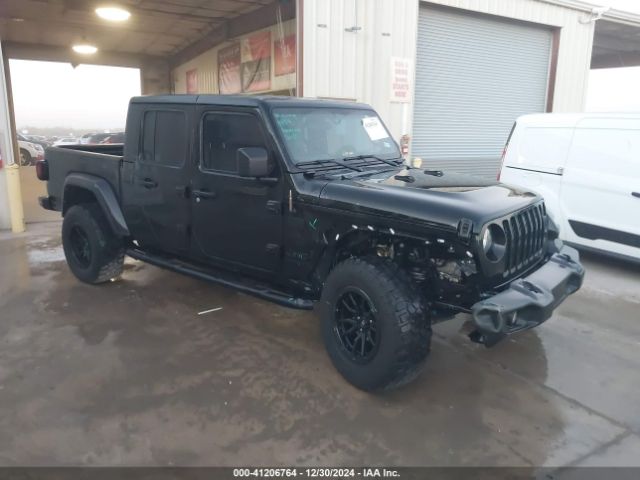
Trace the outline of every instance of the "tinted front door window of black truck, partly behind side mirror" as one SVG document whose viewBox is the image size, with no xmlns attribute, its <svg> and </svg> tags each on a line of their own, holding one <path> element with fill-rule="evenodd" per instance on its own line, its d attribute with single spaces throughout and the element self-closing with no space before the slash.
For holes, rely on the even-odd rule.
<svg viewBox="0 0 640 480">
<path fill-rule="evenodd" d="M 247 113 L 208 113 L 202 121 L 202 168 L 236 173 L 236 152 L 263 147 L 260 120 Z"/>
</svg>

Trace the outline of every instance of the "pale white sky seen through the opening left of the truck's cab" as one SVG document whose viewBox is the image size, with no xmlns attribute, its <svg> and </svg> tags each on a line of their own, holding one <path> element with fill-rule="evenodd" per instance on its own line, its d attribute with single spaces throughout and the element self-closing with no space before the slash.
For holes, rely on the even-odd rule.
<svg viewBox="0 0 640 480">
<path fill-rule="evenodd" d="M 140 95 L 137 68 L 11 60 L 10 69 L 18 128 L 123 129 Z"/>
</svg>

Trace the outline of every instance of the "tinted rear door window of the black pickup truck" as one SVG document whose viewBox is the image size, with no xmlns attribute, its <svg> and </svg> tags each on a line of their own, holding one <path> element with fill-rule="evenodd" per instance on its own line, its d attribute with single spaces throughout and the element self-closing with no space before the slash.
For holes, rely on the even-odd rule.
<svg viewBox="0 0 640 480">
<path fill-rule="evenodd" d="M 187 138 L 184 112 L 149 110 L 144 114 L 141 158 L 148 163 L 181 167 L 187 156 Z"/>
</svg>

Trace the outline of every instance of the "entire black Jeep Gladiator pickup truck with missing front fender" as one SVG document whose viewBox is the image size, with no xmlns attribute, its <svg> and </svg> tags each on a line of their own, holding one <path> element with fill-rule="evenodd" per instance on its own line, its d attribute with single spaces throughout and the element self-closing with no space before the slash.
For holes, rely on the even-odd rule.
<svg viewBox="0 0 640 480">
<path fill-rule="evenodd" d="M 316 302 L 329 355 L 364 390 L 415 378 L 432 324 L 494 345 L 582 284 L 534 193 L 407 167 L 367 105 L 283 97 L 131 100 L 124 145 L 49 148 L 44 208 L 71 271 L 124 256 L 281 305 Z"/>
</svg>

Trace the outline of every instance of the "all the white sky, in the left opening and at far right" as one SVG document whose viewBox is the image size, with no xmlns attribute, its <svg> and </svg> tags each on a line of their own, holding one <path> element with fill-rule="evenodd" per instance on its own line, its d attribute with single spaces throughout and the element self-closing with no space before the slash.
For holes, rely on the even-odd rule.
<svg viewBox="0 0 640 480">
<path fill-rule="evenodd" d="M 640 14 L 640 0 L 593 0 Z M 123 128 L 129 98 L 140 94 L 133 68 L 11 60 L 19 128 Z M 640 111 L 640 67 L 594 70 L 589 74 L 587 111 Z"/>
</svg>

